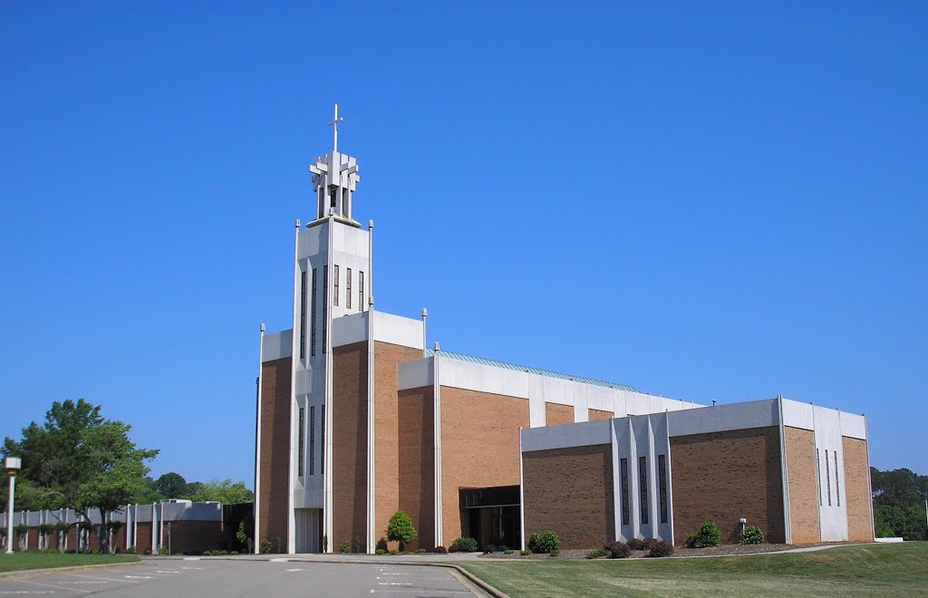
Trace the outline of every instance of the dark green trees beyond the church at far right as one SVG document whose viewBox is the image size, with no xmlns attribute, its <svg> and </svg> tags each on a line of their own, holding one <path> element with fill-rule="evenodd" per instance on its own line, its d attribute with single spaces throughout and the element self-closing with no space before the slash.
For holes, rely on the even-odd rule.
<svg viewBox="0 0 928 598">
<path fill-rule="evenodd" d="M 873 528 L 877 538 L 928 540 L 925 500 L 928 476 L 902 468 L 880 471 L 870 467 L 873 488 Z"/>
</svg>

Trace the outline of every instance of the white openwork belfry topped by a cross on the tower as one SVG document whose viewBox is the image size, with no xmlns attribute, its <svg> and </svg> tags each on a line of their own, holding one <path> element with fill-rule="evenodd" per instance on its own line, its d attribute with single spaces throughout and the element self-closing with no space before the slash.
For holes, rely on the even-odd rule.
<svg viewBox="0 0 928 598">
<path fill-rule="evenodd" d="M 309 165 L 316 191 L 316 220 L 322 220 L 334 210 L 335 218 L 352 226 L 360 226 L 351 215 L 354 187 L 361 177 L 357 174 L 357 160 L 339 152 L 339 105 L 335 105 L 332 127 L 332 151 L 316 157 Z"/>
</svg>

